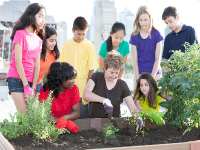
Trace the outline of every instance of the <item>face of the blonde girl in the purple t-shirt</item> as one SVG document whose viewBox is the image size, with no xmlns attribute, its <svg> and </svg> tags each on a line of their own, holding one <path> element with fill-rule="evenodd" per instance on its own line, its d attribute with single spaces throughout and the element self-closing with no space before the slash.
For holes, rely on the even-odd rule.
<svg viewBox="0 0 200 150">
<path fill-rule="evenodd" d="M 141 29 L 148 30 L 150 26 L 150 18 L 147 13 L 142 14 L 139 16 L 139 24 L 141 26 Z"/>
</svg>

